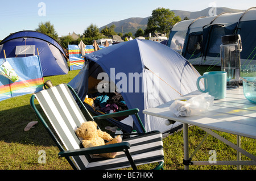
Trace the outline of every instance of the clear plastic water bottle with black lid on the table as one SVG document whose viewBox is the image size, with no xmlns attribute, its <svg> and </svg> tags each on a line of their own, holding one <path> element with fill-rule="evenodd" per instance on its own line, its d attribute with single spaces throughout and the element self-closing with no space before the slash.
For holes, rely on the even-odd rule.
<svg viewBox="0 0 256 181">
<path fill-rule="evenodd" d="M 221 71 L 226 71 L 226 86 L 236 89 L 240 82 L 240 52 L 242 43 L 240 35 L 226 35 L 221 37 Z"/>
</svg>

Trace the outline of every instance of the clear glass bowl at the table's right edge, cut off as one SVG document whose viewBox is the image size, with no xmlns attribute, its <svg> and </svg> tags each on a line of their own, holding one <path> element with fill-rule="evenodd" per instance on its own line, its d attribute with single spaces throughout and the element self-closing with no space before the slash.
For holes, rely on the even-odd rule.
<svg viewBox="0 0 256 181">
<path fill-rule="evenodd" d="M 256 104 L 256 77 L 245 78 L 247 81 L 243 81 L 243 95 L 250 102 Z"/>
</svg>

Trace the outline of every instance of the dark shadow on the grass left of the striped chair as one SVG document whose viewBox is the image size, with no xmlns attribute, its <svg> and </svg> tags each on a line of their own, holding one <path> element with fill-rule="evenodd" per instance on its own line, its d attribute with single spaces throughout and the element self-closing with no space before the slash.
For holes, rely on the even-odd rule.
<svg viewBox="0 0 256 181">
<path fill-rule="evenodd" d="M 9 143 L 55 146 L 29 104 L 0 111 L 0 117 L 0 140 Z M 31 121 L 39 123 L 35 125 L 35 128 L 24 131 Z"/>
</svg>

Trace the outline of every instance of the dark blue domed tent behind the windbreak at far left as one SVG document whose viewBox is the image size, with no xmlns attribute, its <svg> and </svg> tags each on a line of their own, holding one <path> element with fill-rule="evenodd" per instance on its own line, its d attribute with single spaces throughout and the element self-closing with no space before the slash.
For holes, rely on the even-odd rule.
<svg viewBox="0 0 256 181">
<path fill-rule="evenodd" d="M 37 52 L 38 49 L 38 52 Z M 40 32 L 19 31 L 12 33 L 0 43 L 0 58 L 27 57 L 39 53 L 44 76 L 68 73 L 67 57 L 57 41 Z"/>
</svg>

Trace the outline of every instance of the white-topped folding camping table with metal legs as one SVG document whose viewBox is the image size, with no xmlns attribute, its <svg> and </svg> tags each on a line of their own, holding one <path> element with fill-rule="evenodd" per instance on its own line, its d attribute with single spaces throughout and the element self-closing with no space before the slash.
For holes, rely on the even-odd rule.
<svg viewBox="0 0 256 181">
<path fill-rule="evenodd" d="M 201 92 L 193 91 L 190 94 L 184 95 L 178 99 L 189 99 Z M 183 123 L 183 138 L 184 138 L 184 166 L 189 169 L 189 165 L 256 165 L 255 155 L 248 153 L 246 150 L 240 148 L 240 137 L 256 138 L 256 104 L 250 103 L 249 100 L 243 96 L 243 88 L 227 90 L 226 98 L 214 100 L 213 106 L 209 108 L 207 113 L 202 115 L 194 115 L 187 117 L 177 117 L 169 109 L 174 100 L 164 103 L 155 108 L 148 108 L 143 110 L 143 113 L 152 116 L 162 117 L 168 120 L 179 121 Z M 196 125 L 205 132 L 206 136 L 203 141 L 196 148 L 195 152 L 189 157 L 188 154 L 188 124 Z M 237 135 L 237 145 L 221 137 L 211 129 Z M 211 134 L 213 137 L 224 142 L 237 150 L 237 161 L 192 161 L 193 155 L 199 150 L 199 147 L 206 140 L 207 136 Z M 240 154 L 246 155 L 251 161 L 241 161 Z"/>
</svg>

